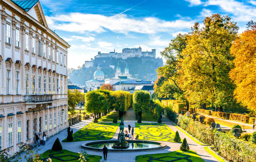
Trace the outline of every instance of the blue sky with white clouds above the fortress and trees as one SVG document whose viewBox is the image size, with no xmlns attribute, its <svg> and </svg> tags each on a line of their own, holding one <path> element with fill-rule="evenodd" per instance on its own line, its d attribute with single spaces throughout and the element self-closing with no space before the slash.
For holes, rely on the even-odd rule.
<svg viewBox="0 0 256 162">
<path fill-rule="evenodd" d="M 39 0 L 48 27 L 71 45 L 68 68 L 123 48 L 156 49 L 214 13 L 237 22 L 239 33 L 256 21 L 256 0 Z"/>
</svg>

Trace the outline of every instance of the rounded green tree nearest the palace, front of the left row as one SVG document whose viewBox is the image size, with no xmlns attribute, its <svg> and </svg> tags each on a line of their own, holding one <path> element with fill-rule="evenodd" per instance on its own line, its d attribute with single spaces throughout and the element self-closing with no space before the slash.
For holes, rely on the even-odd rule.
<svg viewBox="0 0 256 162">
<path fill-rule="evenodd" d="M 104 93 L 97 90 L 85 93 L 85 111 L 94 113 L 95 120 L 96 114 L 106 112 L 108 109 L 107 99 Z"/>
</svg>

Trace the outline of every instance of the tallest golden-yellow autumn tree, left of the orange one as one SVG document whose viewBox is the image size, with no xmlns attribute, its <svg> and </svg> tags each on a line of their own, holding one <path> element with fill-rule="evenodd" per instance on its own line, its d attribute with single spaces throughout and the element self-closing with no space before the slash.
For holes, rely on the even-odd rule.
<svg viewBox="0 0 256 162">
<path fill-rule="evenodd" d="M 234 84 L 229 71 L 234 67 L 230 54 L 236 40 L 238 26 L 228 16 L 214 14 L 206 17 L 202 28 L 199 23 L 187 35 L 187 45 L 179 58 L 178 73 L 182 91 L 190 103 L 213 105 L 219 111 L 232 107 Z M 233 104 L 233 105 L 231 105 Z"/>
</svg>

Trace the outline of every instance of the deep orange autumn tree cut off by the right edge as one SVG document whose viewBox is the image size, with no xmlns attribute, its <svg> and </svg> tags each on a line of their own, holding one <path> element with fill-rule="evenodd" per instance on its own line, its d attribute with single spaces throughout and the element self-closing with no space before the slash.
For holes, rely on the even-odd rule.
<svg viewBox="0 0 256 162">
<path fill-rule="evenodd" d="M 253 21 L 233 42 L 230 53 L 235 57 L 235 67 L 229 72 L 236 85 L 235 98 L 249 109 L 256 109 L 256 24 Z"/>
</svg>

